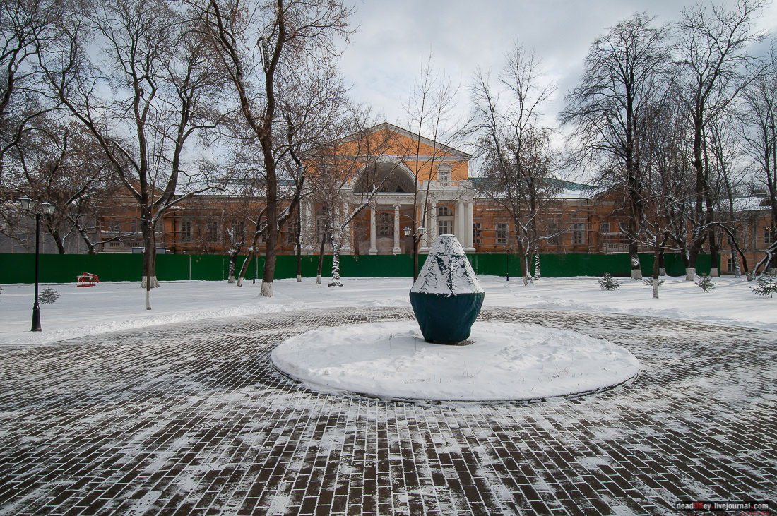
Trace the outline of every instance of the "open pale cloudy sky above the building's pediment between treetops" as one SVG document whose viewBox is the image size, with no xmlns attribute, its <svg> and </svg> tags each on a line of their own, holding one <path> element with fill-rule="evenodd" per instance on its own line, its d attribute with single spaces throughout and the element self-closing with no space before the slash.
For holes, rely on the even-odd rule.
<svg viewBox="0 0 777 516">
<path fill-rule="evenodd" d="M 657 23 L 679 19 L 681 2 L 653 0 L 348 0 L 359 32 L 343 54 L 341 67 L 352 95 L 371 104 L 391 123 L 406 126 L 402 101 L 429 53 L 435 68 L 461 84 L 462 111 L 469 112 L 467 88 L 476 68 L 495 73 L 514 42 L 534 48 L 557 81 L 555 99 L 545 109 L 555 120 L 566 92 L 577 84 L 588 47 L 608 27 L 634 12 L 657 16 Z M 733 1 L 726 0 L 733 5 Z M 690 2 L 688 2 L 690 5 Z M 777 34 L 777 5 L 759 20 Z M 407 127 L 410 129 L 409 127 Z"/>
</svg>

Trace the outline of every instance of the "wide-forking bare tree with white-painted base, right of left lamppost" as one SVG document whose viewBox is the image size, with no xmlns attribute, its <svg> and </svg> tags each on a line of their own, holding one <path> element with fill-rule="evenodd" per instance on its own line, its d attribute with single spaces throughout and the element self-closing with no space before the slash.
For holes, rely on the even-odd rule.
<svg viewBox="0 0 777 516">
<path fill-rule="evenodd" d="M 142 286 L 151 310 L 149 290 L 159 286 L 156 225 L 171 206 L 210 188 L 198 175 L 197 159 L 186 158 L 187 142 L 218 123 L 213 106 L 221 104 L 223 79 L 192 9 L 162 0 L 117 0 L 84 12 L 83 23 L 66 28 L 71 37 L 47 62 L 47 79 L 96 137 L 138 205 Z M 90 32 L 99 64 L 82 47 Z"/>
</svg>

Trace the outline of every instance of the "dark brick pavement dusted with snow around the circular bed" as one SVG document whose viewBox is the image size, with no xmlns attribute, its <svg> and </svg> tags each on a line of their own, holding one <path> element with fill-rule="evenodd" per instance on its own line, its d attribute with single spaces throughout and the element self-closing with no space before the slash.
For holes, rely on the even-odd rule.
<svg viewBox="0 0 777 516">
<path fill-rule="evenodd" d="M 483 310 L 641 361 L 613 390 L 523 405 L 316 393 L 268 363 L 312 328 L 410 317 L 308 310 L 2 350 L 0 514 L 774 514 L 777 334 Z"/>
</svg>

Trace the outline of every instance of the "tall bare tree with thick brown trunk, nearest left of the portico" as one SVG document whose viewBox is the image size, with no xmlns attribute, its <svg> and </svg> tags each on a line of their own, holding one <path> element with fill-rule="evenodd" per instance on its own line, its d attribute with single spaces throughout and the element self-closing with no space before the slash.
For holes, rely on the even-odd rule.
<svg viewBox="0 0 777 516">
<path fill-rule="evenodd" d="M 284 89 L 279 78 L 284 72 L 291 76 L 305 63 L 331 68 L 331 57 L 338 54 L 338 37 L 350 33 L 350 11 L 334 0 L 277 0 L 262 5 L 211 0 L 206 9 L 212 40 L 234 86 L 242 116 L 262 150 L 267 248 L 261 292 L 269 297 L 273 295 L 280 220 L 277 147 L 288 134 L 281 136 L 274 126 L 284 93 L 293 92 L 293 88 Z M 294 92 L 299 101 L 305 100 L 306 93 Z"/>
</svg>

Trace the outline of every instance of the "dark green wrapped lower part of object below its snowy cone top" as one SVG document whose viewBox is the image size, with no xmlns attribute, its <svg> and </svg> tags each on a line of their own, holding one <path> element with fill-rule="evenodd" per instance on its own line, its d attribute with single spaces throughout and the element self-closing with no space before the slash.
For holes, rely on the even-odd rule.
<svg viewBox="0 0 777 516">
<path fill-rule="evenodd" d="M 485 296 L 485 293 L 441 296 L 411 292 L 410 305 L 425 341 L 456 344 L 469 338 Z"/>
</svg>

